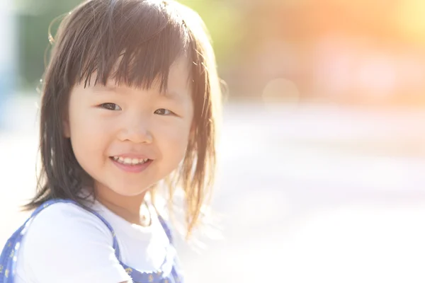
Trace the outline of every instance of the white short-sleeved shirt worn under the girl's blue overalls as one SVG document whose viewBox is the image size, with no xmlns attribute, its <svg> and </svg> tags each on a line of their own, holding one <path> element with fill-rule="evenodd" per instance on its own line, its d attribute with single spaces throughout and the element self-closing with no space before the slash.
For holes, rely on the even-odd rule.
<svg viewBox="0 0 425 283">
<path fill-rule="evenodd" d="M 159 269 L 169 239 L 150 207 L 149 227 L 130 224 L 99 202 L 93 207 L 115 231 L 121 260 L 140 271 Z M 43 209 L 18 250 L 16 283 L 118 283 L 131 278 L 115 257 L 113 237 L 96 215 L 72 203 Z"/>
</svg>

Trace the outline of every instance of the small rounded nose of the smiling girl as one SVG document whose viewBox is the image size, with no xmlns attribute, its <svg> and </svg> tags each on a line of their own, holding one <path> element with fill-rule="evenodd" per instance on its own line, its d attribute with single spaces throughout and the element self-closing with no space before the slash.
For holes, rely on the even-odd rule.
<svg viewBox="0 0 425 283">
<path fill-rule="evenodd" d="M 132 141 L 135 144 L 151 144 L 153 136 L 150 129 L 149 119 L 132 117 L 124 122 L 118 134 L 118 139 L 120 141 Z"/>
</svg>

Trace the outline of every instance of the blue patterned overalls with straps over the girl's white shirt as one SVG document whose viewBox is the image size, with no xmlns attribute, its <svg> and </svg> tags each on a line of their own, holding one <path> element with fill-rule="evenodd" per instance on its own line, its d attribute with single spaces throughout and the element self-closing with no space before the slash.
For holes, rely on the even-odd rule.
<svg viewBox="0 0 425 283">
<path fill-rule="evenodd" d="M 21 226 L 15 233 L 8 239 L 6 245 L 3 248 L 3 251 L 0 255 L 0 283 L 14 283 L 15 271 L 16 271 L 16 262 L 18 260 L 18 249 L 21 245 L 21 241 L 23 236 L 25 235 L 28 226 L 33 219 L 42 209 L 45 209 L 51 204 L 55 204 L 57 202 L 70 202 L 73 204 L 79 205 L 77 202 L 72 200 L 49 200 L 42 204 L 40 207 L 35 209 L 33 214 L 31 214 L 30 218 Z M 183 276 L 181 274 L 181 270 L 178 268 L 178 260 L 176 257 L 176 250 L 172 245 L 172 237 L 171 231 L 169 227 L 166 225 L 164 219 L 159 216 L 159 222 L 161 223 L 166 236 L 168 236 L 170 245 L 166 252 L 166 258 L 162 263 L 159 270 L 154 270 L 152 272 L 140 272 L 135 270 L 128 265 L 125 265 L 124 262 L 120 259 L 120 248 L 118 247 L 118 242 L 115 237 L 115 232 L 113 231 L 111 225 L 104 219 L 100 214 L 96 212 L 91 212 L 96 215 L 103 223 L 108 227 L 111 231 L 113 237 L 113 248 L 115 250 L 115 256 L 118 258 L 120 264 L 125 268 L 125 271 L 132 278 L 132 282 L 134 283 L 183 283 Z M 117 282 L 118 283 L 118 282 Z"/>
</svg>

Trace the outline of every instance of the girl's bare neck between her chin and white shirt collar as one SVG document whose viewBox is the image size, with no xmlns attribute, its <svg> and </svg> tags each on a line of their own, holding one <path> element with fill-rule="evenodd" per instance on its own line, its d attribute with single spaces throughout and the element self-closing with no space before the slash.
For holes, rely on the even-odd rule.
<svg viewBox="0 0 425 283">
<path fill-rule="evenodd" d="M 111 212 L 132 224 L 149 226 L 150 214 L 147 216 L 147 209 L 142 206 L 145 195 L 146 192 L 136 196 L 125 196 L 106 187 L 96 187 L 98 202 L 101 202 Z"/>
</svg>

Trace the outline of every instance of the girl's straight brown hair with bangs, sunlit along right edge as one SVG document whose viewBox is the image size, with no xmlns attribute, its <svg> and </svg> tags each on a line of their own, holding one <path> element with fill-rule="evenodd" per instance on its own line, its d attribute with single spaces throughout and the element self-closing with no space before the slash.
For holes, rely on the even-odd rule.
<svg viewBox="0 0 425 283">
<path fill-rule="evenodd" d="M 40 108 L 42 162 L 37 193 L 26 209 L 54 198 L 84 204 L 79 192 L 91 178 L 79 166 L 62 123 L 76 83 L 89 83 L 96 74 L 96 83 L 115 79 L 149 88 L 159 79 L 164 90 L 171 64 L 186 54 L 191 63 L 193 132 L 181 168 L 165 183 L 171 201 L 176 187 L 183 189 L 189 234 L 212 187 L 221 99 L 215 57 L 203 21 L 174 1 L 89 0 L 67 13 L 55 38 L 50 32 L 49 38 L 53 47 Z"/>
</svg>

